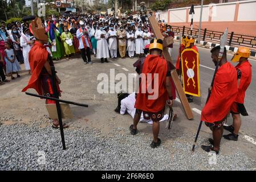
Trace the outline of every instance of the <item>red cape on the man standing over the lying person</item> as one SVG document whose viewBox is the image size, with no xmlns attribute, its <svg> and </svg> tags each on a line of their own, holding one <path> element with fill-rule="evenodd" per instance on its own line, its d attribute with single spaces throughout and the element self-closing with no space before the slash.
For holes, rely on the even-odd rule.
<svg viewBox="0 0 256 182">
<path fill-rule="evenodd" d="M 141 84 L 139 93 L 137 94 L 135 108 L 143 111 L 155 113 L 164 109 L 166 100 L 168 100 L 168 93 L 165 88 L 166 74 L 168 71 L 167 61 L 156 55 L 148 55 L 144 61 L 142 74 L 145 77 L 141 77 Z M 151 81 L 147 81 L 148 73 L 152 74 Z M 154 91 L 154 73 L 159 74 L 158 97 L 156 99 L 149 99 L 149 96 L 153 96 L 155 92 L 151 93 L 148 88 L 152 88 Z M 147 84 L 147 82 L 149 84 Z M 152 86 L 152 85 L 153 86 Z M 143 86 L 146 85 L 145 93 L 141 93 Z M 149 92 L 150 93 L 149 93 Z M 156 93 L 155 93 L 156 94 Z"/>
</svg>

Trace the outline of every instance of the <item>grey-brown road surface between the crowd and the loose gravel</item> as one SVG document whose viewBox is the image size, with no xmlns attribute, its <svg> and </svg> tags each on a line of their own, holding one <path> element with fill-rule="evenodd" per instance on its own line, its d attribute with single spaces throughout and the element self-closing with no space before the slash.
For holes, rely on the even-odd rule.
<svg viewBox="0 0 256 182">
<path fill-rule="evenodd" d="M 200 61 L 205 67 L 214 68 L 212 61 L 210 60 L 210 53 L 208 49 L 198 48 L 200 51 Z M 177 59 L 178 47 L 174 44 L 173 60 Z M 228 57 L 229 59 L 231 56 Z M 77 101 L 84 104 L 88 104 L 88 108 L 71 106 L 74 114 L 73 119 L 66 119 L 64 122 L 68 122 L 71 126 L 70 130 L 76 130 L 78 127 L 92 127 L 99 129 L 102 135 L 107 137 L 115 137 L 112 133 L 113 129 L 121 128 L 125 129 L 121 131 L 122 136 L 129 135 L 128 128 L 132 123 L 132 118 L 128 114 L 120 115 L 113 111 L 117 105 L 117 94 L 97 92 L 97 86 L 99 80 L 97 76 L 100 73 L 109 75 L 111 69 L 115 69 L 115 74 L 135 73 L 132 64 L 136 59 L 117 59 L 112 60 L 110 63 L 101 64 L 100 60 L 92 57 L 94 64 L 84 65 L 81 58 L 71 59 L 69 61 L 62 60 L 55 62 L 56 71 L 58 76 L 62 80 L 60 89 L 62 92 L 63 100 Z M 253 69 L 255 70 L 255 62 L 251 61 Z M 204 106 L 206 99 L 206 91 L 210 85 L 212 79 L 213 70 L 205 67 L 200 67 L 201 77 L 201 93 L 200 98 L 196 98 L 194 103 L 191 104 L 192 108 L 201 110 Z M 29 75 L 22 73 L 22 77 L 12 80 L 0 88 L 1 109 L 0 109 L 0 121 L 3 122 L 2 126 L 13 125 L 15 123 L 35 123 L 40 125 L 39 127 L 51 127 L 50 122 L 47 120 L 47 111 L 44 106 L 44 100 L 39 100 L 35 97 L 26 96 L 21 92 L 29 81 Z M 109 81 L 105 81 L 107 84 Z M 112 81 L 110 81 L 112 82 Z M 118 81 L 114 81 L 113 84 L 117 84 Z M 249 156 L 251 159 L 256 159 L 256 145 L 243 139 L 245 135 L 252 137 L 256 141 L 255 136 L 255 113 L 253 105 L 255 98 L 255 91 L 253 90 L 255 85 L 255 79 L 247 92 L 246 107 L 250 114 L 249 117 L 243 118 L 243 125 L 238 142 L 227 141 L 222 139 L 221 142 L 221 155 L 225 158 L 234 156 L 235 152 L 242 152 L 243 156 Z M 109 85 L 111 87 L 111 85 Z M 34 90 L 29 90 L 34 92 Z M 174 113 L 178 115 L 176 121 L 173 122 L 172 130 L 165 129 L 165 122 L 160 123 L 160 138 L 163 141 L 162 146 L 168 148 L 168 150 L 174 155 L 176 152 L 173 150 L 175 143 L 179 142 L 186 146 L 186 150 L 183 150 L 181 146 L 178 146 L 178 150 L 184 153 L 184 156 L 189 156 L 190 150 L 193 144 L 194 135 L 196 134 L 198 123 L 200 121 L 200 114 L 194 113 L 194 119 L 189 121 L 186 119 L 182 107 L 179 102 L 174 102 Z M 229 122 L 231 119 L 229 118 Z M 152 126 L 147 123 L 140 123 L 138 125 L 140 131 L 139 136 L 143 139 L 146 137 L 152 137 Z M 225 132 L 226 133 L 226 132 Z M 137 137 L 137 136 L 135 136 Z M 201 154 L 207 156 L 207 153 L 202 151 L 200 144 L 208 144 L 207 140 L 212 137 L 212 132 L 205 125 L 202 126 L 200 137 L 194 154 Z M 68 142 L 68 140 L 67 140 Z M 128 143 L 131 146 L 134 145 L 132 140 Z M 67 145 L 69 146 L 69 145 Z M 244 163 L 243 160 L 238 160 L 238 163 Z M 198 164 L 200 166 L 200 163 Z M 231 165 L 232 166 L 232 165 Z M 220 168 L 222 169 L 222 168 Z"/>
</svg>

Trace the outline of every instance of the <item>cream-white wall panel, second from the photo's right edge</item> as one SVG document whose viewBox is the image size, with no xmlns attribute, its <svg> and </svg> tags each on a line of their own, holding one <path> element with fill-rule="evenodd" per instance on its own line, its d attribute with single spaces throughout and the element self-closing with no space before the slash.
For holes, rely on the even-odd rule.
<svg viewBox="0 0 256 182">
<path fill-rule="evenodd" d="M 235 16 L 235 3 L 216 6 L 216 14 L 212 15 L 212 22 L 233 21 Z"/>
</svg>

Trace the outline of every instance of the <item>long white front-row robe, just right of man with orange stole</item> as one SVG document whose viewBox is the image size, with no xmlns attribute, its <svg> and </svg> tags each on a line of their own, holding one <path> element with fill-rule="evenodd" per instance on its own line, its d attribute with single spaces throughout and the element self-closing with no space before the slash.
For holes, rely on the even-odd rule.
<svg viewBox="0 0 256 182">
<path fill-rule="evenodd" d="M 104 34 L 105 38 L 100 38 L 100 35 Z M 108 50 L 108 42 L 107 42 L 108 34 L 105 30 L 97 30 L 95 33 L 95 39 L 97 40 L 97 59 L 100 58 L 108 58 L 109 50 Z"/>
</svg>

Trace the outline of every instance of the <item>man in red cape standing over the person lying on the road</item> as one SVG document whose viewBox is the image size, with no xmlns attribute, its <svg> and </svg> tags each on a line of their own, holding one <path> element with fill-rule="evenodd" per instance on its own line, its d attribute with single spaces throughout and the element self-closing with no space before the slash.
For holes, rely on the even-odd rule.
<svg viewBox="0 0 256 182">
<path fill-rule="evenodd" d="M 141 113 L 145 119 L 153 121 L 153 141 L 151 147 L 160 146 L 159 121 L 164 116 L 165 104 L 173 105 L 172 89 L 170 84 L 170 70 L 165 59 L 161 58 L 162 40 L 151 40 L 150 55 L 146 57 L 140 75 L 139 93 L 136 94 L 135 117 L 130 126 L 131 134 L 137 134 L 137 124 Z"/>
</svg>

